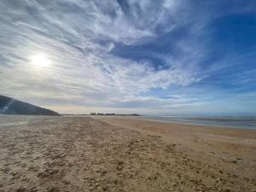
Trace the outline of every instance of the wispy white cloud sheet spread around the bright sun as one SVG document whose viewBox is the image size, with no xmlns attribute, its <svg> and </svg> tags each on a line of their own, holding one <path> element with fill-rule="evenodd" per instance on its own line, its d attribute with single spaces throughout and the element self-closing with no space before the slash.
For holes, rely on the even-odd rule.
<svg viewBox="0 0 256 192">
<path fill-rule="evenodd" d="M 189 1 L 3 0 L 0 10 L 3 94 L 55 108 L 58 103 L 164 108 L 198 102 L 143 96 L 207 76 L 200 67 L 208 41 L 202 32 L 212 13 L 201 18 Z M 155 70 L 148 61 L 112 53 L 115 44 L 150 44 L 183 28 L 183 38 L 171 43 L 179 55 L 152 51 L 166 68 Z M 29 58 L 38 53 L 49 57 L 49 67 L 32 65 Z"/>
</svg>

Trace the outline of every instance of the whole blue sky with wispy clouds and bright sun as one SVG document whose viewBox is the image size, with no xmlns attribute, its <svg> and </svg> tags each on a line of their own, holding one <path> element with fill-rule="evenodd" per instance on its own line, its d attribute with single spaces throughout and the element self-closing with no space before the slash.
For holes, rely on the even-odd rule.
<svg viewBox="0 0 256 192">
<path fill-rule="evenodd" d="M 0 94 L 59 113 L 256 115 L 256 1 L 1 0 Z"/>
</svg>

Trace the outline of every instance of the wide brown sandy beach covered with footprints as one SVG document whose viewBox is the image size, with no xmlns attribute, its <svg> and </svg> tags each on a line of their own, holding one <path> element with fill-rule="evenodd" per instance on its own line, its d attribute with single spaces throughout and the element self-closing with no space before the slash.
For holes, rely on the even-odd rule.
<svg viewBox="0 0 256 192">
<path fill-rule="evenodd" d="M 256 131 L 0 116 L 0 191 L 256 191 Z"/>
</svg>

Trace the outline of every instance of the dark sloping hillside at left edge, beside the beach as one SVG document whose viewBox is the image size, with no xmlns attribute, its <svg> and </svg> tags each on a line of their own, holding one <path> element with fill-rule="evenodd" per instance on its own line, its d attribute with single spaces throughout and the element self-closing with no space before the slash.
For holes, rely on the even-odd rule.
<svg viewBox="0 0 256 192">
<path fill-rule="evenodd" d="M 20 102 L 8 96 L 0 95 L 0 114 L 22 114 L 22 115 L 60 115 L 47 108 L 40 108 L 27 102 Z"/>
</svg>

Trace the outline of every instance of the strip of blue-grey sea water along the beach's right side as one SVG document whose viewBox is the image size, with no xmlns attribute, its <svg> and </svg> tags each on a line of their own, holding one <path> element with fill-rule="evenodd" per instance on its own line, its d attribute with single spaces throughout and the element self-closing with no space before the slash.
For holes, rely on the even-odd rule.
<svg viewBox="0 0 256 192">
<path fill-rule="evenodd" d="M 256 117 L 192 117 L 192 116 L 139 116 L 137 119 L 148 119 L 160 122 L 173 122 L 189 125 L 208 125 L 256 130 Z"/>
</svg>

